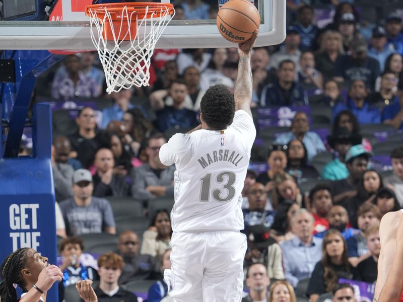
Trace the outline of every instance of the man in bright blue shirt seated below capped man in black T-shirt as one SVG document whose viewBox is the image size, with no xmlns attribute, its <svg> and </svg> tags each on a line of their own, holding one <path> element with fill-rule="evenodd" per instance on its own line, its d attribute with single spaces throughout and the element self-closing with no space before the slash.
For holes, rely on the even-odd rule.
<svg viewBox="0 0 403 302">
<path fill-rule="evenodd" d="M 379 110 L 370 106 L 366 100 L 368 93 L 364 81 L 353 81 L 350 85 L 348 95 L 347 103 L 338 103 L 333 107 L 333 119 L 340 111 L 350 110 L 357 117 L 360 124 L 375 124 L 381 122 Z"/>
</svg>

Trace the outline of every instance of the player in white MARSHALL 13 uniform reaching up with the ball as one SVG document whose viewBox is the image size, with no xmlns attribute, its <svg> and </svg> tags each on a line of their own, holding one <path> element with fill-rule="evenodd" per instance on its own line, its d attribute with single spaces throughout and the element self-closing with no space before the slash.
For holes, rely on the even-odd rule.
<svg viewBox="0 0 403 302">
<path fill-rule="evenodd" d="M 172 136 L 156 159 L 161 167 L 176 166 L 172 267 L 164 273 L 175 302 L 241 300 L 246 251 L 241 192 L 256 136 L 250 111 L 256 37 L 257 30 L 239 44 L 234 96 L 221 85 L 208 89 L 200 103 L 201 125 Z"/>
</svg>

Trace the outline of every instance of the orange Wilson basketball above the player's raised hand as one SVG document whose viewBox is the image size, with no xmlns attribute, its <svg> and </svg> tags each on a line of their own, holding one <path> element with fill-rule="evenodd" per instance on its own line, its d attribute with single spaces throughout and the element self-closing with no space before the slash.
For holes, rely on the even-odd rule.
<svg viewBox="0 0 403 302">
<path fill-rule="evenodd" d="M 249 40 L 259 25 L 259 12 L 247 0 L 230 0 L 218 11 L 218 30 L 225 39 L 233 43 Z"/>
</svg>

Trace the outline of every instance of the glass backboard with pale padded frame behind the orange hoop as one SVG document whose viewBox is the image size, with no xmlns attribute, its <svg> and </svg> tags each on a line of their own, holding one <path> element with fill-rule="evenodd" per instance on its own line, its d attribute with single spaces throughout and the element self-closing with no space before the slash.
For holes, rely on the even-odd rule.
<svg viewBox="0 0 403 302">
<path fill-rule="evenodd" d="M 286 35 L 286 0 L 250 1 L 255 4 L 261 19 L 256 46 L 281 43 Z M 154 2 L 171 3 L 169 0 Z M 204 2 L 209 5 L 207 19 L 178 20 L 181 16 L 177 14 L 165 29 L 156 47 L 217 48 L 234 46 L 234 43 L 225 40 L 220 35 L 215 20 L 219 7 L 226 0 L 205 0 Z M 181 1 L 174 3 L 180 4 Z M 49 21 L 25 21 L 26 18 L 18 18 L 18 16 L 13 19 L 9 16 L 10 14 L 7 15 L 8 12 L 4 11 L 3 16 L 9 17 L 0 21 L 0 49 L 93 50 L 90 22 L 84 14 L 85 6 L 91 4 L 92 0 L 58 0 Z"/>
</svg>

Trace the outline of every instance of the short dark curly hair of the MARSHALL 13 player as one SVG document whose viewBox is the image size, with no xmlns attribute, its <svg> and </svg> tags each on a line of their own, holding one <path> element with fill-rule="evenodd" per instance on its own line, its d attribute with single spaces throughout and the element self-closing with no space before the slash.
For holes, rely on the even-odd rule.
<svg viewBox="0 0 403 302">
<path fill-rule="evenodd" d="M 234 119 L 234 96 L 224 85 L 214 85 L 201 98 L 200 112 L 209 127 L 215 130 L 225 129 Z"/>
</svg>

